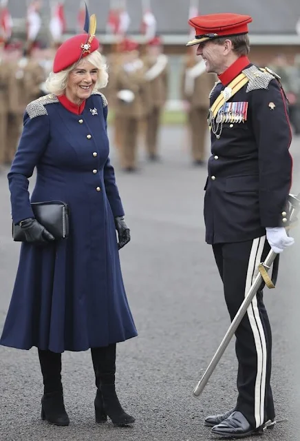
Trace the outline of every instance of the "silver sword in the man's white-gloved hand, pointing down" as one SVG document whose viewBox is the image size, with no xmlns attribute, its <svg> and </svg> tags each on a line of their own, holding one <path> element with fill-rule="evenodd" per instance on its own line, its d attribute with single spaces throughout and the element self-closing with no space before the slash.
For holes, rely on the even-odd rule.
<svg viewBox="0 0 300 441">
<path fill-rule="evenodd" d="M 291 224 L 295 222 L 295 220 L 297 220 L 297 214 L 300 211 L 300 193 L 297 196 L 294 194 L 289 194 L 288 202 L 290 203 L 290 213 L 289 213 L 290 225 L 286 229 L 289 229 L 291 227 Z M 268 256 L 266 257 L 266 260 L 264 260 L 264 263 L 261 263 L 260 266 L 263 267 L 266 273 L 270 269 L 276 256 L 277 253 L 273 252 L 271 249 Z M 228 347 L 229 343 L 231 342 L 231 339 L 235 335 L 235 331 L 237 330 L 239 323 L 242 321 L 242 318 L 246 314 L 246 311 L 250 306 L 250 303 L 252 302 L 254 296 L 257 294 L 257 291 L 262 282 L 263 282 L 263 277 L 259 272 L 255 277 L 255 280 L 253 281 L 253 284 L 251 285 L 248 293 L 246 294 L 246 297 L 242 302 L 242 305 L 239 307 L 239 310 L 237 311 L 235 318 L 231 322 L 231 326 L 228 328 L 228 331 L 226 332 L 221 344 L 219 345 L 215 355 L 213 356 L 210 364 L 208 365 L 208 368 L 206 369 L 201 380 L 197 383 L 197 386 L 193 390 L 193 395 L 195 397 L 199 397 L 200 394 L 203 392 L 204 387 L 206 386 L 209 378 L 211 378 L 213 371 L 215 371 L 215 368 L 217 367 L 219 360 L 221 359 L 224 351 L 226 350 L 226 347 Z"/>
</svg>

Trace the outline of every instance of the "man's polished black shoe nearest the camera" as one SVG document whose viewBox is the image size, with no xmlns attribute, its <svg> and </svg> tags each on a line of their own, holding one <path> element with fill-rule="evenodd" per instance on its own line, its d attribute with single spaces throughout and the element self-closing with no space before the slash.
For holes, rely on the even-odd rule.
<svg viewBox="0 0 300 441">
<path fill-rule="evenodd" d="M 244 415 L 237 411 L 231 413 L 231 416 L 217 424 L 217 426 L 214 426 L 211 431 L 215 435 L 221 435 L 226 438 L 244 438 L 252 433 L 263 433 L 262 428 L 256 429 L 250 426 Z"/>
</svg>

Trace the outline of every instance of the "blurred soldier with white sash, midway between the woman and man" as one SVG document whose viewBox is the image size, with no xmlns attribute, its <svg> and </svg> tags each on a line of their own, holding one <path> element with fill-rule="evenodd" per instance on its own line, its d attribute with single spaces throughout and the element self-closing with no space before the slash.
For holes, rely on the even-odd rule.
<svg viewBox="0 0 300 441">
<path fill-rule="evenodd" d="M 147 68 L 145 74 L 151 93 L 151 110 L 146 121 L 146 147 L 150 161 L 158 160 L 158 132 L 160 116 L 168 97 L 168 58 L 162 53 L 162 40 L 153 37 L 146 48 L 143 58 Z"/>
</svg>

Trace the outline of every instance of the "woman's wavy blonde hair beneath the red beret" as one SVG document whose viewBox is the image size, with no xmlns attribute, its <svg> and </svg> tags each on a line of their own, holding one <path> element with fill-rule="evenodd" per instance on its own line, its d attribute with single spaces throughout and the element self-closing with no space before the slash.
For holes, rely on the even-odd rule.
<svg viewBox="0 0 300 441">
<path fill-rule="evenodd" d="M 96 89 L 105 88 L 108 82 L 108 74 L 107 74 L 107 65 L 103 61 L 103 57 L 98 52 L 98 50 L 92 52 L 92 54 L 87 55 L 84 59 L 85 61 L 89 61 L 92 63 L 95 68 L 98 69 L 98 79 L 95 85 Z M 54 72 L 50 72 L 46 80 L 46 88 L 50 94 L 54 94 L 56 96 L 63 95 L 65 93 L 65 89 L 67 88 L 67 80 L 69 78 L 69 72 L 71 72 L 74 68 L 76 68 L 80 64 L 76 62 L 69 66 L 69 68 L 54 74 Z"/>
</svg>

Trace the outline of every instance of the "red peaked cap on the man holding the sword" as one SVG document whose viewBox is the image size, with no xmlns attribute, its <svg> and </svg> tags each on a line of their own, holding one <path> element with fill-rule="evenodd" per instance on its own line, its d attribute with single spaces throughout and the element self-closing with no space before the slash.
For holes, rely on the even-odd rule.
<svg viewBox="0 0 300 441">
<path fill-rule="evenodd" d="M 247 34 L 248 23 L 252 21 L 250 15 L 240 14 L 209 14 L 193 17 L 189 25 L 195 28 L 195 39 L 186 43 L 187 46 L 203 43 L 203 41 L 219 37 L 233 37 Z"/>
</svg>

